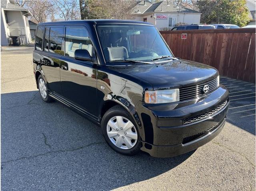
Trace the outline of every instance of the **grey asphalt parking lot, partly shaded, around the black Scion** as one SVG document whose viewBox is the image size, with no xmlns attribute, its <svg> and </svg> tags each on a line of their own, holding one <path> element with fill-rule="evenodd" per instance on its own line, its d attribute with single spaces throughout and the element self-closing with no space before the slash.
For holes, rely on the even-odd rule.
<svg viewBox="0 0 256 191">
<path fill-rule="evenodd" d="M 255 190 L 255 84 L 221 77 L 230 91 L 223 131 L 173 158 L 127 157 L 100 128 L 40 98 L 32 47 L 1 56 L 1 185 L 9 190 Z"/>
</svg>

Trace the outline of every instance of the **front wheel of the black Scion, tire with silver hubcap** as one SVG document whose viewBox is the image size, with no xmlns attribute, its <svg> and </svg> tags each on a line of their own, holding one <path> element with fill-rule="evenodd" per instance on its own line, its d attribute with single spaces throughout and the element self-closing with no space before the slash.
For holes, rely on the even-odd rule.
<svg viewBox="0 0 256 191">
<path fill-rule="evenodd" d="M 121 128 L 122 125 L 118 125 L 118 121 L 122 121 L 124 128 Z M 109 124 L 111 124 L 112 127 L 110 127 Z M 118 130 L 115 130 L 113 127 L 118 128 Z M 106 142 L 114 151 L 122 155 L 135 155 L 140 151 L 142 144 L 138 127 L 130 113 L 122 106 L 115 105 L 106 111 L 102 117 L 101 129 Z M 109 135 L 113 137 L 110 138 Z M 137 139 L 135 139 L 135 137 Z M 122 142 L 121 147 L 120 142 Z"/>
</svg>

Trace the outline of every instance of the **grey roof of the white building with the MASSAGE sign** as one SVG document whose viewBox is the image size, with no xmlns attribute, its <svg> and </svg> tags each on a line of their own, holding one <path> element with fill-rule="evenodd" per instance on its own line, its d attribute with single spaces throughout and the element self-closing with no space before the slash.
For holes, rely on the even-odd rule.
<svg viewBox="0 0 256 191">
<path fill-rule="evenodd" d="M 138 11 L 139 10 L 139 11 Z M 180 12 L 180 13 L 198 13 L 198 11 L 185 8 L 183 6 L 178 7 L 172 4 L 170 1 L 161 1 L 152 4 L 148 0 L 140 1 L 132 10 L 132 14 L 148 14 L 154 12 Z"/>
</svg>

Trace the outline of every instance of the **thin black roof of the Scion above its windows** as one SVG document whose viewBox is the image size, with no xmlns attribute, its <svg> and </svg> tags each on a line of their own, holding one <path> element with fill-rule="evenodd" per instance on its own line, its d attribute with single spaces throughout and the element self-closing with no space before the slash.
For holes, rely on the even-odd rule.
<svg viewBox="0 0 256 191">
<path fill-rule="evenodd" d="M 71 25 L 71 24 L 104 24 L 104 23 L 123 23 L 123 24 L 146 24 L 152 25 L 148 22 L 143 21 L 134 21 L 134 20 L 114 20 L 114 19 L 93 19 L 93 20 L 70 20 L 70 21 L 58 21 L 58 22 L 43 22 L 38 24 L 40 25 Z"/>
</svg>

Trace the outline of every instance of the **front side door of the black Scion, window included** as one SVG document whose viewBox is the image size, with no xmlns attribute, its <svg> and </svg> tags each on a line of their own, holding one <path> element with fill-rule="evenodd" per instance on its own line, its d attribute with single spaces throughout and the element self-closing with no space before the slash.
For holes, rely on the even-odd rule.
<svg viewBox="0 0 256 191">
<path fill-rule="evenodd" d="M 86 49 L 90 56 L 95 58 L 88 31 L 84 26 L 65 26 L 64 40 L 65 56 L 60 60 L 63 96 L 86 111 L 86 114 L 97 116 L 97 64 L 74 58 L 77 49 Z"/>
</svg>

